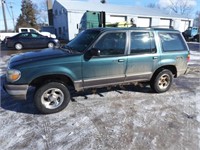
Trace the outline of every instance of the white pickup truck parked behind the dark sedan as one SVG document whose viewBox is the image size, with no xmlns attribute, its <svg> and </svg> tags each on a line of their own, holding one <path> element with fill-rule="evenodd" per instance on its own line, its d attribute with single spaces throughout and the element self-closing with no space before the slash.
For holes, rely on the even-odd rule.
<svg viewBox="0 0 200 150">
<path fill-rule="evenodd" d="M 51 34 L 50 32 L 40 32 L 34 28 L 19 28 L 18 29 L 19 32 L 3 32 L 3 33 L 0 33 L 0 40 L 1 41 L 4 41 L 5 38 L 7 37 L 12 37 L 18 33 L 21 33 L 21 32 L 33 32 L 33 33 L 39 33 L 41 35 L 44 35 L 44 36 L 48 36 L 48 37 L 52 37 L 52 38 L 56 38 L 56 35 L 55 34 Z"/>
</svg>

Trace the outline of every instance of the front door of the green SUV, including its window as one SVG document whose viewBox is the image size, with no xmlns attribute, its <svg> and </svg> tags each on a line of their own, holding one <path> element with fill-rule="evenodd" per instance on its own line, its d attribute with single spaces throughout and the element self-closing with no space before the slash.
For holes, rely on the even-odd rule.
<svg viewBox="0 0 200 150">
<path fill-rule="evenodd" d="M 125 79 L 127 33 L 107 32 L 94 44 L 100 56 L 83 59 L 84 88 L 121 83 Z"/>
</svg>

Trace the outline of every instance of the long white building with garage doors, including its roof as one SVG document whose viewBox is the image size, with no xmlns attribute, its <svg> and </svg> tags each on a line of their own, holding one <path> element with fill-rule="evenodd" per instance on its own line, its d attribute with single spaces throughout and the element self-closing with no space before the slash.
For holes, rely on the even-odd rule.
<svg viewBox="0 0 200 150">
<path fill-rule="evenodd" d="M 193 24 L 193 19 L 155 8 L 55 0 L 53 22 L 57 37 L 73 39 L 79 32 L 80 21 L 86 11 L 104 11 L 106 23 L 130 22 L 133 19 L 137 27 L 173 26 L 183 32 Z"/>
</svg>

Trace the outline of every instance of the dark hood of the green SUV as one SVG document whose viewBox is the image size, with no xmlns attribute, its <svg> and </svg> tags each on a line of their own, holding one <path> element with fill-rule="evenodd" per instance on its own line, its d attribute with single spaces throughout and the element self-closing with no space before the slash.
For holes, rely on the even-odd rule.
<svg viewBox="0 0 200 150">
<path fill-rule="evenodd" d="M 69 53 L 68 51 L 63 50 L 63 49 L 52 49 L 52 48 L 21 53 L 11 58 L 10 67 L 12 68 L 13 66 L 16 66 L 22 63 L 24 64 L 28 62 L 52 59 L 52 58 L 63 57 L 67 55 L 74 55 L 74 54 Z"/>
</svg>

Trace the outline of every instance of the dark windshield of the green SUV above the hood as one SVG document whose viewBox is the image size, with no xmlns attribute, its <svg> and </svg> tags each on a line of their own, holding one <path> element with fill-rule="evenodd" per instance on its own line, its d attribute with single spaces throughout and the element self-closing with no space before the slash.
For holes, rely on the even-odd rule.
<svg viewBox="0 0 200 150">
<path fill-rule="evenodd" d="M 97 38 L 100 31 L 97 30 L 86 30 L 78 34 L 71 42 L 66 44 L 64 47 L 70 50 L 83 52 L 88 48 L 92 42 Z"/>
</svg>

